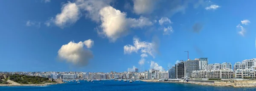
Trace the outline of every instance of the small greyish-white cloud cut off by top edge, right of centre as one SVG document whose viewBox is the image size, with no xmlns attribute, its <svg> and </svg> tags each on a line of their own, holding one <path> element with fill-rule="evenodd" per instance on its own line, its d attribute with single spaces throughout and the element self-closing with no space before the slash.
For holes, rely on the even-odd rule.
<svg viewBox="0 0 256 91">
<path fill-rule="evenodd" d="M 150 14 L 154 11 L 154 3 L 156 0 L 133 0 L 134 12 L 136 14 Z"/>
</svg>

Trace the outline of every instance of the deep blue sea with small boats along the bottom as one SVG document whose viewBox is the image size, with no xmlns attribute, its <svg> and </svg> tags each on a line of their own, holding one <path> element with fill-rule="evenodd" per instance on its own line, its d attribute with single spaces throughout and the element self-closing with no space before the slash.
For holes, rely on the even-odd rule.
<svg viewBox="0 0 256 91">
<path fill-rule="evenodd" d="M 0 91 L 256 91 L 256 88 L 233 88 L 189 83 L 154 83 L 143 81 L 129 83 L 114 80 L 95 80 L 93 82 L 80 80 L 79 82 L 47 86 L 0 86 Z"/>
</svg>

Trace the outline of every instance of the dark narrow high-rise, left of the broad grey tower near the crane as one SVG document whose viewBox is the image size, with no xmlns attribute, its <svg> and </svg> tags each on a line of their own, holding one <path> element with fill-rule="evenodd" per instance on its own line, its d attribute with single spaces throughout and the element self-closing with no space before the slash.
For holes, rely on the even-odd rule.
<svg viewBox="0 0 256 91">
<path fill-rule="evenodd" d="M 175 64 L 175 77 L 183 78 L 184 70 L 185 70 L 185 62 L 181 60 L 179 63 Z"/>
</svg>

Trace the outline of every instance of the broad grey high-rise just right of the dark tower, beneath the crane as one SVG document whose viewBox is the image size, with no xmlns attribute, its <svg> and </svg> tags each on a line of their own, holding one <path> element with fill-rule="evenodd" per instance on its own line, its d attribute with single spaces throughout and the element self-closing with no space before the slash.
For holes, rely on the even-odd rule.
<svg viewBox="0 0 256 91">
<path fill-rule="evenodd" d="M 199 60 L 187 60 L 185 62 L 185 77 L 192 77 L 192 72 L 199 70 Z"/>
</svg>

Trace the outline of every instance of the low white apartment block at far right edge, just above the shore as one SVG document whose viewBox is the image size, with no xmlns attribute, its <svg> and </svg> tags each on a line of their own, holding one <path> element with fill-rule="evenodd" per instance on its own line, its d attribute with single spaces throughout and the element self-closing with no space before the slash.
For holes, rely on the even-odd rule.
<svg viewBox="0 0 256 91">
<path fill-rule="evenodd" d="M 236 69 L 235 78 L 255 78 L 254 69 Z"/>
</svg>

